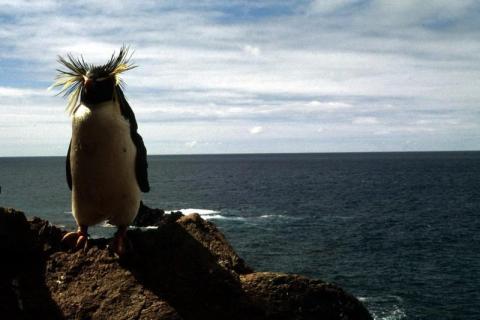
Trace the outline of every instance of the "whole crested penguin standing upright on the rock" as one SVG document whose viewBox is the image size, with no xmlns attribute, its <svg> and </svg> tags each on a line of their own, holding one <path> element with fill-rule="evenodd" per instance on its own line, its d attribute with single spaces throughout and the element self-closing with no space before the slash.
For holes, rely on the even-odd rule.
<svg viewBox="0 0 480 320">
<path fill-rule="evenodd" d="M 58 62 L 52 87 L 68 96 L 72 136 L 66 157 L 66 180 L 78 229 L 62 242 L 88 248 L 88 227 L 104 221 L 117 227 L 113 251 L 127 251 L 126 232 L 138 213 L 141 192 L 148 192 L 147 150 L 135 114 L 128 104 L 120 74 L 135 68 L 122 46 L 104 65 L 87 64 L 83 56 Z"/>
</svg>

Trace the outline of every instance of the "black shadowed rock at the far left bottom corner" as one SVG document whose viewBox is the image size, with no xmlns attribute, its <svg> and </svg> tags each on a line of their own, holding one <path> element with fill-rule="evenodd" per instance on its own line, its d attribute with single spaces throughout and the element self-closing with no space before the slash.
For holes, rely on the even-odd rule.
<svg viewBox="0 0 480 320">
<path fill-rule="evenodd" d="M 34 226 L 22 212 L 0 208 L 2 319 L 63 318 L 46 285 L 46 256 L 37 237 L 48 223 L 43 230 L 32 230 Z"/>
</svg>

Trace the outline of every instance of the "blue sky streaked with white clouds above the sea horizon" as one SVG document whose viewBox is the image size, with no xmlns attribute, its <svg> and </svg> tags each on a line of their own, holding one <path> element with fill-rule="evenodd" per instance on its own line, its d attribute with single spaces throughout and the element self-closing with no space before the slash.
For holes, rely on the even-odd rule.
<svg viewBox="0 0 480 320">
<path fill-rule="evenodd" d="M 0 156 L 65 155 L 58 55 L 103 64 L 149 154 L 480 150 L 480 2 L 0 0 Z"/>
</svg>

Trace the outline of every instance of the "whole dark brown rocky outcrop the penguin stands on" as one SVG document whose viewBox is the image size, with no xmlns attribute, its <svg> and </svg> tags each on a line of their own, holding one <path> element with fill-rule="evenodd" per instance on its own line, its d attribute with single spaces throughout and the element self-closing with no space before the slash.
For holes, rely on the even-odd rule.
<svg viewBox="0 0 480 320">
<path fill-rule="evenodd" d="M 133 250 L 118 258 L 108 239 L 67 252 L 65 231 L 0 208 L 0 318 L 371 319 L 333 284 L 253 272 L 198 214 L 157 218 L 128 232 Z"/>
</svg>

